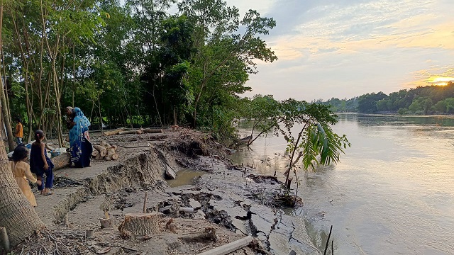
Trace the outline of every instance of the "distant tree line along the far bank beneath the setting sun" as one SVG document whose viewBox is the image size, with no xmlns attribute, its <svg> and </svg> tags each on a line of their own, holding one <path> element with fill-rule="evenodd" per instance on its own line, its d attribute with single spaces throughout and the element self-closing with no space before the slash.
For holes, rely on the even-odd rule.
<svg viewBox="0 0 454 255">
<path fill-rule="evenodd" d="M 449 81 L 445 86 L 402 89 L 389 95 L 378 92 L 351 99 L 319 100 L 316 103 L 330 105 L 331 110 L 338 113 L 453 114 L 454 82 Z"/>
</svg>

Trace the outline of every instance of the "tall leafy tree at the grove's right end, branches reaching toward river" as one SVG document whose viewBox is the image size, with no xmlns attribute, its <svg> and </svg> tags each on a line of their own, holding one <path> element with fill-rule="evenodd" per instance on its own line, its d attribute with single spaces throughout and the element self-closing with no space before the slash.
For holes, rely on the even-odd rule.
<svg viewBox="0 0 454 255">
<path fill-rule="evenodd" d="M 253 74 L 256 73 L 254 60 L 277 60 L 275 53 L 259 36 L 267 35 L 276 23 L 272 18 L 260 17 L 260 13 L 253 10 L 248 11 L 240 21 L 238 8 L 228 7 L 226 2 L 221 0 L 184 0 L 179 2 L 178 7 L 196 28 L 193 36 L 197 49 L 194 68 L 198 70 L 189 77 L 196 95 L 193 106 L 195 127 L 201 100 L 204 100 L 203 104 L 206 106 L 209 105 L 208 101 L 215 97 L 211 91 L 206 91 L 209 85 L 212 90 L 221 89 L 233 94 L 233 91 L 228 91 L 233 87 L 224 86 L 231 79 L 222 79 L 223 74 Z M 238 33 L 240 30 L 244 33 Z M 247 79 L 247 76 L 245 78 Z M 242 94 L 250 89 L 243 86 L 246 79 L 241 79 L 240 83 L 236 84 L 236 93 Z M 204 94 L 206 98 L 203 98 Z"/>
</svg>

